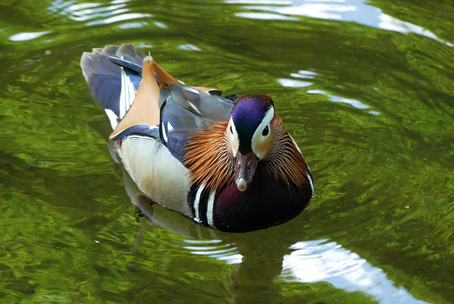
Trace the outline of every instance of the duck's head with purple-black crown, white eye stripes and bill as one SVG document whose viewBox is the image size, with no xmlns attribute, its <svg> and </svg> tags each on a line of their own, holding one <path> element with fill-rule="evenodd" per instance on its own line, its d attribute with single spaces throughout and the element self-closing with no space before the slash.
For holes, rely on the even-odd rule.
<svg viewBox="0 0 454 304">
<path fill-rule="evenodd" d="M 274 118 L 274 104 L 265 95 L 243 95 L 232 109 L 226 133 L 236 159 L 235 183 L 242 192 L 253 180 L 258 162 L 265 159 L 272 148 L 274 130 L 271 121 Z"/>
</svg>

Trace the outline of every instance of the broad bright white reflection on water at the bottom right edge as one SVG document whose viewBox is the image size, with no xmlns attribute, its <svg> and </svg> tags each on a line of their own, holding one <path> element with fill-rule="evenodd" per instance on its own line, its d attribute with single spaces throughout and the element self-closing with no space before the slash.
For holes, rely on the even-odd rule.
<svg viewBox="0 0 454 304">
<path fill-rule="evenodd" d="M 299 241 L 284 256 L 279 278 L 290 282 L 327 282 L 348 292 L 360 291 L 380 303 L 426 303 L 394 286 L 380 268 L 327 239 Z"/>
</svg>

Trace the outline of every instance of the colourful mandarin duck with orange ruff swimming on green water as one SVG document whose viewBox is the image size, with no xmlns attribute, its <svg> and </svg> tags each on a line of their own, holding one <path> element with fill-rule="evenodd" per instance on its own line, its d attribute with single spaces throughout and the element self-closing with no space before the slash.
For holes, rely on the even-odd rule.
<svg viewBox="0 0 454 304">
<path fill-rule="evenodd" d="M 130 44 L 84 53 L 81 67 L 153 202 L 227 232 L 282 224 L 309 204 L 311 170 L 270 97 L 185 85 Z"/>
</svg>

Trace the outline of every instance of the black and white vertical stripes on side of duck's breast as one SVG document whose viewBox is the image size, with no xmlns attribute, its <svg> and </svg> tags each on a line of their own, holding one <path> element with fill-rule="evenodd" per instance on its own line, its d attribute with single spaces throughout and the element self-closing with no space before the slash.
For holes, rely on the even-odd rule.
<svg viewBox="0 0 454 304">
<path fill-rule="evenodd" d="M 206 227 L 216 228 L 214 225 L 214 201 L 216 190 L 208 193 L 204 191 L 205 184 L 192 185 L 189 190 L 188 202 L 192 207 L 194 220 Z"/>
</svg>

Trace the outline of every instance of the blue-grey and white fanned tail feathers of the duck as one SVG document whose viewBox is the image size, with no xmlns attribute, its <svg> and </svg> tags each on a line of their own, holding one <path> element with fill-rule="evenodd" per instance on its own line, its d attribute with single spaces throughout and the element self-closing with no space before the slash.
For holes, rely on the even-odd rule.
<svg viewBox="0 0 454 304">
<path fill-rule="evenodd" d="M 142 80 L 143 58 L 145 54 L 131 44 L 106 45 L 82 55 L 82 74 L 109 116 L 112 129 L 133 104 Z"/>
</svg>

